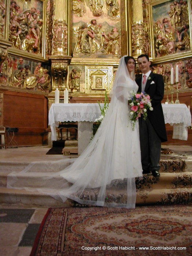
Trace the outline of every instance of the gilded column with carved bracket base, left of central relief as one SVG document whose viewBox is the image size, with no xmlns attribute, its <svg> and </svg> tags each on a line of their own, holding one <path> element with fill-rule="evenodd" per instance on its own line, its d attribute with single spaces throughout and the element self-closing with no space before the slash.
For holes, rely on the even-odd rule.
<svg viewBox="0 0 192 256">
<path fill-rule="evenodd" d="M 68 56 L 68 13 L 70 1 L 54 0 L 52 55 L 52 91 L 68 89 L 67 70 L 71 56 Z"/>
</svg>

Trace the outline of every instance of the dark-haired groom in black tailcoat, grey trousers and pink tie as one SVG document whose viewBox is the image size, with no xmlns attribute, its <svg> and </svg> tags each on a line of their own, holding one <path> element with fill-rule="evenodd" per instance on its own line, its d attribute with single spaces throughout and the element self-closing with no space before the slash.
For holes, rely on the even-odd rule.
<svg viewBox="0 0 192 256">
<path fill-rule="evenodd" d="M 159 161 L 161 157 L 161 142 L 167 141 L 165 120 L 161 101 L 164 95 L 163 76 L 153 74 L 150 70 L 149 57 L 142 54 L 138 57 L 138 65 L 142 76 L 136 79 L 138 91 L 150 95 L 153 111 L 147 112 L 147 119 L 139 118 L 139 136 L 143 173 L 152 173 L 159 177 Z"/>
</svg>

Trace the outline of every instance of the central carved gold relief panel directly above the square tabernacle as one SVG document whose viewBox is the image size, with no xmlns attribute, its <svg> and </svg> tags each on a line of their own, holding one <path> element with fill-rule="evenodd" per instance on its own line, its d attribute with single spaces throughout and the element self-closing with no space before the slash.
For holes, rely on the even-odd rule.
<svg viewBox="0 0 192 256">
<path fill-rule="evenodd" d="M 120 0 L 74 0 L 74 58 L 121 57 Z"/>
</svg>

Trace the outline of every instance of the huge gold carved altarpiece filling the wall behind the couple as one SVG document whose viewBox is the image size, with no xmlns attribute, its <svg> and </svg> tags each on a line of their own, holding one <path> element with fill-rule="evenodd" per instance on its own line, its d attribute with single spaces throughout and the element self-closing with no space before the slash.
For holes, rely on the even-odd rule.
<svg viewBox="0 0 192 256">
<path fill-rule="evenodd" d="M 97 99 L 112 89 L 121 56 L 147 53 L 166 81 L 179 64 L 180 90 L 191 91 L 191 1 L 178 3 L 173 20 L 174 2 L 0 0 L 0 88 L 43 94 L 50 104 L 56 89 Z"/>
</svg>

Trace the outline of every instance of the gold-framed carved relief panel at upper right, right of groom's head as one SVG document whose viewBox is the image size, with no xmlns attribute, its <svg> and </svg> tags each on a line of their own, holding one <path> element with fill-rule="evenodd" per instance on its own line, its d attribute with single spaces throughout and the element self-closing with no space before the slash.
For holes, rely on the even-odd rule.
<svg viewBox="0 0 192 256">
<path fill-rule="evenodd" d="M 151 1 L 151 52 L 154 61 L 192 55 L 191 1 Z"/>
</svg>

